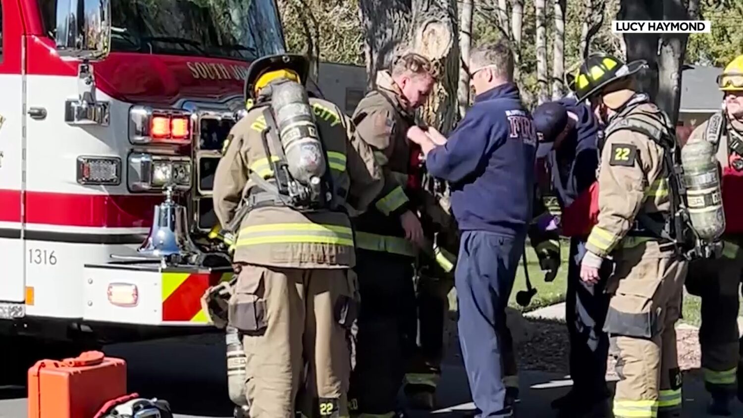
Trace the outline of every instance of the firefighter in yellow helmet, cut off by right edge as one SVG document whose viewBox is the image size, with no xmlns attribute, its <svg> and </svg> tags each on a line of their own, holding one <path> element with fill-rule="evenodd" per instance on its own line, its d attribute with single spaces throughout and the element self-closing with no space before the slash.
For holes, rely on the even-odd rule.
<svg viewBox="0 0 743 418">
<path fill-rule="evenodd" d="M 687 144 L 712 142 L 722 169 L 722 200 L 725 213 L 722 257 L 690 264 L 687 290 L 701 296 L 701 369 L 712 400 L 709 412 L 730 415 L 730 400 L 738 393 L 743 402 L 743 375 L 739 342 L 739 288 L 743 278 L 743 55 L 733 59 L 718 76 L 723 92 L 723 111 L 694 129 Z"/>
</svg>

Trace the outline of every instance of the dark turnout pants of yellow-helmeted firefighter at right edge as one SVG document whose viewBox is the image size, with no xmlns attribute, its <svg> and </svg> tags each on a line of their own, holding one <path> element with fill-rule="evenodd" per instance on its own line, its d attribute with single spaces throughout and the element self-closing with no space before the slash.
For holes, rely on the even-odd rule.
<svg viewBox="0 0 743 418">
<path fill-rule="evenodd" d="M 687 290 L 701 297 L 701 368 L 713 394 L 736 393 L 739 368 L 739 287 L 743 251 L 739 239 L 725 237 L 722 257 L 690 263 Z"/>
</svg>

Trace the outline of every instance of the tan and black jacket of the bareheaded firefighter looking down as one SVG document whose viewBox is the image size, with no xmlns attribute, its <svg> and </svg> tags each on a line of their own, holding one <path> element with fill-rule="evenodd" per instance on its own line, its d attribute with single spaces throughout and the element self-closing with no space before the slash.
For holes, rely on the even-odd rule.
<svg viewBox="0 0 743 418">
<path fill-rule="evenodd" d="M 414 255 L 404 238 L 400 215 L 410 208 L 406 195 L 410 146 L 408 129 L 415 124 L 400 99 L 400 90 L 388 71 L 377 74 L 377 90 L 370 91 L 357 105 L 353 121 L 356 135 L 374 151 L 385 185 L 369 211 L 354 221 L 357 245 L 362 249 Z"/>
</svg>

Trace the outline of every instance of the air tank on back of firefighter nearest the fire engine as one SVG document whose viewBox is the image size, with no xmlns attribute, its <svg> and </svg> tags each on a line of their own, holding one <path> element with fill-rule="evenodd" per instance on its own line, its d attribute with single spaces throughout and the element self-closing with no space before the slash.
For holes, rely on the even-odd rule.
<svg viewBox="0 0 743 418">
<path fill-rule="evenodd" d="M 271 106 L 286 154 L 289 174 L 310 191 L 310 200 L 321 196 L 320 177 L 327 163 L 320 143 L 307 91 L 297 82 L 285 81 L 273 86 Z"/>
</svg>

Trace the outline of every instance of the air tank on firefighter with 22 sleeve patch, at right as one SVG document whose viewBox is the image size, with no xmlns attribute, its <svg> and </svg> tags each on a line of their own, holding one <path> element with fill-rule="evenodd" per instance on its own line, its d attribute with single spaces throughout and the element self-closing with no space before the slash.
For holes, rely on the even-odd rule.
<svg viewBox="0 0 743 418">
<path fill-rule="evenodd" d="M 687 188 L 687 209 L 699 238 L 715 241 L 725 230 L 720 175 L 714 146 L 696 140 L 681 148 L 681 166 Z"/>
</svg>

